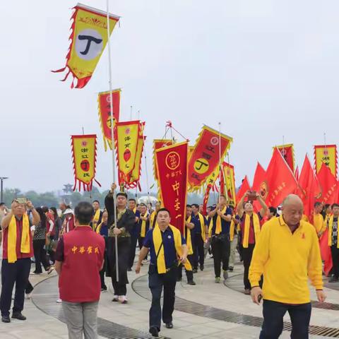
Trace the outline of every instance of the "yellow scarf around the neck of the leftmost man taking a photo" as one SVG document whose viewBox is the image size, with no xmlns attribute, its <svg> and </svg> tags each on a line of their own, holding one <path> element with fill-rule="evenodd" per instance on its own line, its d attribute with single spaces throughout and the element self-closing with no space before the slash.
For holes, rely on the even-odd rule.
<svg viewBox="0 0 339 339">
<path fill-rule="evenodd" d="M 20 252 L 30 253 L 30 220 L 27 214 L 23 215 Z M 8 225 L 7 255 L 8 263 L 16 262 L 16 217 L 14 215 Z"/>
</svg>

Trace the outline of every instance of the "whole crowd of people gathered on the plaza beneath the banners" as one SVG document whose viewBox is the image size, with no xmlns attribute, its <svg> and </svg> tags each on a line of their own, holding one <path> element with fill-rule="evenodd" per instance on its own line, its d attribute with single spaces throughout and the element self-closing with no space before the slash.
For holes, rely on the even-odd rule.
<svg viewBox="0 0 339 339">
<path fill-rule="evenodd" d="M 149 263 L 150 333 L 156 337 L 161 319 L 167 328 L 173 327 L 174 290 L 182 280 L 182 268 L 187 283 L 196 285 L 194 275 L 204 270 L 210 253 L 215 283 L 221 283 L 234 270 L 238 253 L 244 265 L 244 294 L 257 304 L 263 297 L 260 338 L 278 338 L 287 311 L 292 333 L 297 333 L 292 338 L 308 338 L 311 304 L 307 277 L 323 302 L 319 238 L 326 230 L 333 260 L 329 281 L 339 280 L 338 204 L 315 203 L 310 224 L 302 202 L 294 195 L 285 198 L 281 215 L 253 192 L 246 192 L 237 206 L 220 195 L 218 204 L 206 211 L 198 203 L 187 205 L 181 234 L 171 225 L 169 210 L 160 201 L 152 208 L 116 190 L 117 185 L 112 184 L 105 208 L 99 201 L 79 203 L 74 210 L 61 203 L 58 213 L 54 207 L 35 208 L 30 201 L 14 200 L 11 210 L 1 203 L 0 309 L 4 323 L 11 321 L 14 283 L 12 318 L 25 320 L 21 313 L 24 296 L 30 297 L 33 290 L 29 275 L 42 274 L 42 268 L 47 274 L 55 269 L 59 274 L 57 302 L 62 303 L 69 338 L 82 338 L 82 333 L 85 338 L 97 338 L 97 303 L 100 292 L 107 291 L 105 277 L 112 280 L 112 301 L 126 304 L 129 272 L 134 269 L 139 273 L 141 266 Z M 137 248 L 140 252 L 135 261 Z M 32 273 L 31 258 L 35 262 Z M 74 284 L 77 288 L 70 288 Z"/>
</svg>

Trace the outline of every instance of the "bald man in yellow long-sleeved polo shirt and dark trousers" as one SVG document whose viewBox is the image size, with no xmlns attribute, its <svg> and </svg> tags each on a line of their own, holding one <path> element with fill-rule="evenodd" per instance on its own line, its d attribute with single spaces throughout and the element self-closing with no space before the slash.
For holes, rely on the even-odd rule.
<svg viewBox="0 0 339 339">
<path fill-rule="evenodd" d="M 283 331 L 283 316 L 288 311 L 292 322 L 291 338 L 309 338 L 311 302 L 308 278 L 316 288 L 319 302 L 323 293 L 321 255 L 314 226 L 302 220 L 304 206 L 295 194 L 283 202 L 283 215 L 266 222 L 256 243 L 249 281 L 253 302 L 263 297 L 263 327 L 260 339 L 275 339 Z M 263 290 L 259 280 L 263 274 Z"/>
</svg>

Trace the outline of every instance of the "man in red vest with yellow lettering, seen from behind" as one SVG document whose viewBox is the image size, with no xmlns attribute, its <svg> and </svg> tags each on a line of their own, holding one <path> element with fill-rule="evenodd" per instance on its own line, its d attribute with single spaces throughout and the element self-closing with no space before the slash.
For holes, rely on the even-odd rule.
<svg viewBox="0 0 339 339">
<path fill-rule="evenodd" d="M 69 338 L 97 338 L 97 305 L 100 299 L 100 270 L 105 240 L 93 232 L 94 208 L 81 202 L 75 210 L 76 228 L 59 240 L 55 270 L 59 274 L 62 308 Z"/>
</svg>

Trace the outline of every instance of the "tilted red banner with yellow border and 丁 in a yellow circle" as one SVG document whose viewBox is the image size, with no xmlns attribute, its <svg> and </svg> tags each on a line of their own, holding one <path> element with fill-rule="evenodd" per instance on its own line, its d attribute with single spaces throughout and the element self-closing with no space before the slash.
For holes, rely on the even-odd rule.
<svg viewBox="0 0 339 339">
<path fill-rule="evenodd" d="M 219 143 L 219 139 L 221 143 Z M 198 191 L 225 158 L 233 139 L 215 129 L 203 126 L 189 158 L 189 190 Z"/>
</svg>

